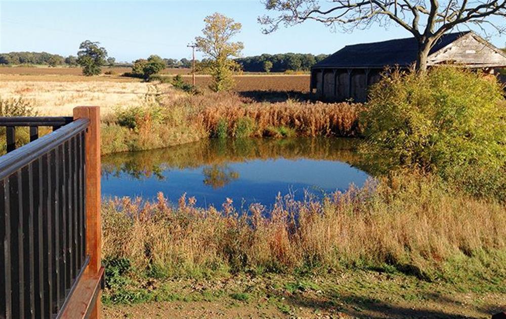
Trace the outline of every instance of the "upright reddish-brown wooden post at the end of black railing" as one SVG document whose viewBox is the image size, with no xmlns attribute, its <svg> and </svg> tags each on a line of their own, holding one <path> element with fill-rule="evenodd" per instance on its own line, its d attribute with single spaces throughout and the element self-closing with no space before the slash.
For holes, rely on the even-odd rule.
<svg viewBox="0 0 506 319">
<path fill-rule="evenodd" d="M 101 271 L 100 248 L 102 245 L 102 224 L 100 219 L 100 108 L 79 106 L 74 108 L 74 120 L 88 118 L 90 125 L 85 134 L 86 145 L 86 253 L 90 263 L 85 276 L 96 276 Z M 91 318 L 100 317 L 100 292 Z"/>
</svg>

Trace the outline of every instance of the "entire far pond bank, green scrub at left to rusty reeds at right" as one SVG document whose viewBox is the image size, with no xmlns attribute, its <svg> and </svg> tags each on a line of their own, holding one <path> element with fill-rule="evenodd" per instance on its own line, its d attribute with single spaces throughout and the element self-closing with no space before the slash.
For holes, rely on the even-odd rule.
<svg viewBox="0 0 506 319">
<path fill-rule="evenodd" d="M 156 87 L 156 86 L 155 86 Z M 158 90 L 158 88 L 156 88 Z M 139 151 L 209 137 L 355 137 L 361 104 L 257 101 L 237 93 L 171 94 L 143 107 L 118 108 L 102 119 L 102 154 Z"/>
</svg>

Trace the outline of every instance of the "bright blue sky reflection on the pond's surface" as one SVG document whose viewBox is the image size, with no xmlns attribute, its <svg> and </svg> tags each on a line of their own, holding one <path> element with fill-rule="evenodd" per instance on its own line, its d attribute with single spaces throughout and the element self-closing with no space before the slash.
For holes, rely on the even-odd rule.
<svg viewBox="0 0 506 319">
<path fill-rule="evenodd" d="M 271 206 L 278 192 L 281 195 L 294 193 L 296 199 L 304 198 L 304 190 L 315 195 L 322 192 L 346 190 L 351 183 L 362 186 L 367 174 L 351 165 L 339 161 L 311 159 L 249 160 L 226 164 L 227 172 L 235 172 L 234 178 L 225 185 L 213 187 L 204 184 L 204 167 L 170 169 L 162 171 L 163 179 L 155 176 L 135 179 L 120 172 L 118 176 L 102 177 L 104 196 L 142 196 L 154 198 L 158 192 L 177 203 L 183 193 L 194 196 L 197 206 L 221 207 L 225 199 L 231 198 L 234 206 L 248 206 L 260 202 Z M 235 178 L 237 177 L 237 178 Z"/>
</svg>

